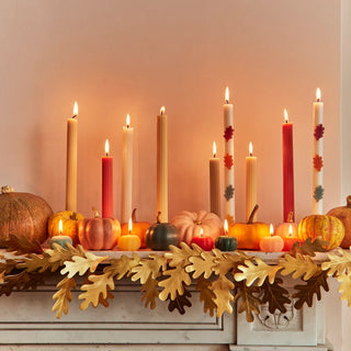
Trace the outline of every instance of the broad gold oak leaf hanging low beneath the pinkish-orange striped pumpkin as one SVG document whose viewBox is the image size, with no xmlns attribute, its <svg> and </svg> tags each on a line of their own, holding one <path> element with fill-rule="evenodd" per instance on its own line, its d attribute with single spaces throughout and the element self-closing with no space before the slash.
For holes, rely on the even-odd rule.
<svg viewBox="0 0 351 351">
<path fill-rule="evenodd" d="M 97 307 L 100 302 L 100 295 L 103 299 L 107 298 L 107 291 L 114 290 L 113 278 L 109 276 L 107 273 L 101 275 L 90 275 L 89 281 L 92 284 L 83 284 L 81 291 L 84 293 L 78 296 L 78 299 L 83 299 L 79 308 L 84 310 L 88 308 L 89 304 Z"/>
</svg>

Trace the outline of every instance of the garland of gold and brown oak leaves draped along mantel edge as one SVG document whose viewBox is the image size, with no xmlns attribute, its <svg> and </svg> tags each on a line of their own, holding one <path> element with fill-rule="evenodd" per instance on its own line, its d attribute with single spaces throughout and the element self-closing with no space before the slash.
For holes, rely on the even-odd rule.
<svg viewBox="0 0 351 351">
<path fill-rule="evenodd" d="M 313 306 L 314 296 L 321 298 L 321 288 L 329 291 L 328 278 L 335 276 L 341 284 L 340 298 L 351 306 L 351 253 L 338 249 L 328 252 L 328 260 L 318 264 L 315 252 L 326 252 L 326 241 L 317 238 L 296 242 L 293 249 L 274 264 L 265 263 L 260 257 L 241 251 L 222 252 L 218 249 L 203 251 L 199 246 L 170 246 L 170 251 L 149 253 L 141 258 L 138 252 L 132 257 L 123 254 L 117 259 L 107 259 L 92 252 L 67 245 L 66 248 L 54 244 L 53 249 L 43 250 L 38 242 L 23 237 L 10 236 L 1 241 L 11 253 L 3 252 L 0 261 L 0 296 L 9 296 L 13 290 L 35 290 L 44 284 L 52 273 L 59 271 L 61 280 L 53 312 L 57 318 L 68 313 L 71 291 L 77 288 L 78 276 L 86 278 L 80 286 L 80 308 L 91 304 L 107 307 L 113 298 L 112 291 L 122 278 L 141 284 L 141 302 L 145 307 L 156 308 L 157 299 L 168 302 L 170 312 L 185 313 L 191 307 L 191 292 L 188 286 L 196 283 L 204 313 L 222 317 L 233 313 L 233 303 L 238 303 L 238 313 L 246 313 L 247 321 L 253 321 L 254 314 L 265 304 L 271 314 L 276 310 L 286 313 L 294 304 L 301 309 L 305 304 Z M 101 273 L 94 273 L 101 267 Z M 280 273 L 278 276 L 278 273 Z M 283 278 L 296 280 L 293 293 L 283 286 Z"/>
</svg>

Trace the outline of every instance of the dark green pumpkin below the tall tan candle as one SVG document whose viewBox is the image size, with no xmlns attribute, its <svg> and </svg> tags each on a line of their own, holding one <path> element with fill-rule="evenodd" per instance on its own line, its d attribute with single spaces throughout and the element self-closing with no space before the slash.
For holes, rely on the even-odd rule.
<svg viewBox="0 0 351 351">
<path fill-rule="evenodd" d="M 160 223 L 160 213 L 145 234 L 146 246 L 152 250 L 167 251 L 170 245 L 178 246 L 180 236 L 178 229 L 170 223 Z"/>
</svg>

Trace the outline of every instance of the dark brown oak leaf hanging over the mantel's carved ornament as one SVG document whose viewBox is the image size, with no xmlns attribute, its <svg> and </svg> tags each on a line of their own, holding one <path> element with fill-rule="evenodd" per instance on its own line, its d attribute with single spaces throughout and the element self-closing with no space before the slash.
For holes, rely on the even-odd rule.
<svg viewBox="0 0 351 351">
<path fill-rule="evenodd" d="M 268 309 L 271 314 L 274 314 L 276 309 L 281 313 L 286 313 L 285 305 L 291 304 L 288 298 L 288 291 L 282 286 L 283 280 L 281 278 L 275 278 L 273 284 L 264 281 L 262 285 L 263 297 L 261 303 L 268 303 Z"/>
</svg>

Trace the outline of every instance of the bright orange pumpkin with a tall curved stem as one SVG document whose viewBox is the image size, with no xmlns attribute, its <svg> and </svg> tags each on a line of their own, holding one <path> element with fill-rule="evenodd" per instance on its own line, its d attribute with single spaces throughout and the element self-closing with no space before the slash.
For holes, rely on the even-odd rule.
<svg viewBox="0 0 351 351">
<path fill-rule="evenodd" d="M 259 205 L 250 214 L 248 223 L 234 223 L 229 226 L 229 236 L 238 240 L 238 249 L 259 250 L 260 241 L 270 236 L 270 226 L 262 222 L 252 222 Z"/>
</svg>

